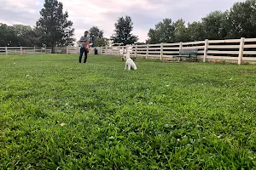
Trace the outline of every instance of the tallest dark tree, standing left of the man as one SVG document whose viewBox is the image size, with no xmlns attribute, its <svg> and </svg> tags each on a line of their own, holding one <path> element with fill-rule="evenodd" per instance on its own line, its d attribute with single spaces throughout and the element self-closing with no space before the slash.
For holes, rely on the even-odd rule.
<svg viewBox="0 0 256 170">
<path fill-rule="evenodd" d="M 57 0 L 45 0 L 40 14 L 41 18 L 38 20 L 37 26 L 42 29 L 42 40 L 50 43 L 52 53 L 54 53 L 56 45 L 73 45 L 73 22 L 67 20 L 68 13 L 67 11 L 63 13 L 62 3 Z"/>
</svg>

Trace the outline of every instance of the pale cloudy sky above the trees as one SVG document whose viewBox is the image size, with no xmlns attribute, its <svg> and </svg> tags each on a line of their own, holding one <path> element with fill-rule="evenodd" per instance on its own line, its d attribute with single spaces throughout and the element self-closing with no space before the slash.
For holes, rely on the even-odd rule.
<svg viewBox="0 0 256 170">
<path fill-rule="evenodd" d="M 162 21 L 183 19 L 200 21 L 214 10 L 225 11 L 243 0 L 59 0 L 73 21 L 75 37 L 79 39 L 91 26 L 104 31 L 104 37 L 113 35 L 114 23 L 129 15 L 133 34 L 139 42 L 148 39 L 148 30 Z M 44 0 L 0 0 L 0 23 L 35 26 Z"/>
</svg>

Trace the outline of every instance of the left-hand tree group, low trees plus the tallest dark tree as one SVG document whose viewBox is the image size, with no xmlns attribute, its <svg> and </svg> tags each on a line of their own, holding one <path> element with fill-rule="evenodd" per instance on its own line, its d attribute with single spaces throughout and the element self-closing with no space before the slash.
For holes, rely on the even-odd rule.
<svg viewBox="0 0 256 170">
<path fill-rule="evenodd" d="M 0 24 L 0 46 L 54 47 L 73 45 L 73 22 L 57 0 L 45 0 L 36 26 Z"/>
</svg>

